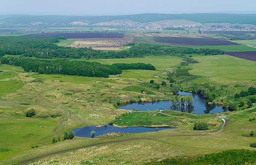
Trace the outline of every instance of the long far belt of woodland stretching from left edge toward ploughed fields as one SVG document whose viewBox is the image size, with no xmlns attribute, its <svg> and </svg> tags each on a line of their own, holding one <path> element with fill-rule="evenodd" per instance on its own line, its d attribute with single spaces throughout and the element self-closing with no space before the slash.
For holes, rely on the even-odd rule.
<svg viewBox="0 0 256 165">
<path fill-rule="evenodd" d="M 43 59 L 58 58 L 128 58 L 147 55 L 183 55 L 183 54 L 224 54 L 218 49 L 192 49 L 186 47 L 139 44 L 128 51 L 99 51 L 91 48 L 61 47 L 54 43 L 64 37 L 0 37 L 0 55 L 23 55 Z"/>
</svg>

